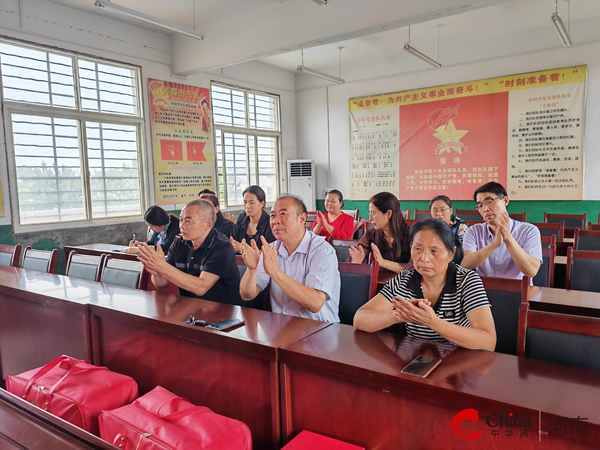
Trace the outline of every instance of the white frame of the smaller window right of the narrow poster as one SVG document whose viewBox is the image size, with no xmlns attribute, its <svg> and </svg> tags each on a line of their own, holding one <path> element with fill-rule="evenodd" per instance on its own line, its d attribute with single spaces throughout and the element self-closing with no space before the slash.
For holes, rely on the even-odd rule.
<svg viewBox="0 0 600 450">
<path fill-rule="evenodd" d="M 245 122 L 245 126 L 244 127 L 239 127 L 239 126 L 233 126 L 233 125 L 222 125 L 222 124 L 218 124 L 215 123 L 214 121 L 214 97 L 213 97 L 213 86 L 219 86 L 221 88 L 224 89 L 233 89 L 233 90 L 238 90 L 238 91 L 242 91 L 244 92 L 244 108 L 246 111 L 245 117 L 244 117 L 244 122 Z M 277 130 L 265 130 L 262 128 L 251 128 L 250 127 L 250 108 L 249 108 L 249 99 L 248 99 L 248 94 L 256 94 L 256 95 L 265 95 L 265 96 L 269 96 L 269 97 L 274 97 L 277 99 L 277 105 L 276 105 L 276 111 L 277 111 Z M 221 132 L 221 142 L 219 143 L 220 147 L 221 147 L 221 158 L 222 161 L 225 162 L 225 133 L 229 133 L 229 134 L 238 134 L 238 135 L 244 135 L 246 136 L 246 139 L 248 139 L 249 137 L 253 137 L 255 143 L 257 142 L 258 138 L 260 137 L 268 137 L 268 138 L 275 138 L 275 161 L 274 161 L 274 166 L 275 166 L 275 198 L 277 198 L 277 196 L 281 193 L 281 166 L 280 166 L 280 161 L 282 158 L 281 155 L 281 141 L 282 141 L 282 132 L 281 132 L 281 96 L 278 94 L 273 94 L 270 92 L 265 92 L 265 91 L 259 91 L 257 89 L 250 89 L 250 88 L 245 88 L 242 86 L 236 86 L 236 85 L 232 85 L 232 84 L 227 84 L 227 83 L 223 83 L 223 82 L 219 82 L 219 81 L 211 81 L 210 83 L 210 97 L 211 97 L 211 113 L 213 115 L 213 140 L 214 140 L 214 149 L 215 149 L 215 182 L 216 182 L 216 189 L 217 189 L 217 194 L 219 193 L 219 158 L 216 155 L 216 152 L 218 151 L 218 145 L 217 145 L 217 130 L 219 130 Z M 258 146 L 255 145 L 255 152 L 258 150 Z M 255 176 L 259 177 L 260 179 L 260 172 L 258 170 L 258 157 L 257 157 L 257 153 L 255 153 Z M 249 148 L 246 147 L 246 161 L 248 163 L 248 178 L 251 177 L 251 170 L 250 170 L 250 153 L 249 153 Z M 252 181 L 251 181 L 252 184 Z M 228 204 L 228 199 L 229 199 L 229 194 L 227 192 L 227 174 L 225 172 L 225 167 L 223 167 L 223 198 L 219 197 L 219 200 L 221 202 L 221 209 L 222 210 L 239 210 L 239 209 L 243 209 L 243 203 L 240 204 L 233 204 L 233 205 L 229 205 Z M 275 200 L 273 201 L 267 201 L 266 205 L 268 206 L 272 206 L 272 204 L 274 203 Z"/>
</svg>

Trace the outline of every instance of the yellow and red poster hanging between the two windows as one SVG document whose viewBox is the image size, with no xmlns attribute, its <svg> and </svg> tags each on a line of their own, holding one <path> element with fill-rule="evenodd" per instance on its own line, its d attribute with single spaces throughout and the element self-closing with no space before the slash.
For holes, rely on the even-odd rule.
<svg viewBox="0 0 600 450">
<path fill-rule="evenodd" d="M 156 203 L 185 203 L 202 189 L 214 191 L 210 91 L 150 78 L 148 88 Z"/>
</svg>

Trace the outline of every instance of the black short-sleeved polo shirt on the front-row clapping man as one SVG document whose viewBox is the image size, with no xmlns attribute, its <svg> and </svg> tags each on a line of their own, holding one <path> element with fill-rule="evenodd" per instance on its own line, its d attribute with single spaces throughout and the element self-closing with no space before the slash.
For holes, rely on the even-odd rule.
<svg viewBox="0 0 600 450">
<path fill-rule="evenodd" d="M 199 277 L 202 272 L 219 276 L 217 282 L 201 298 L 232 305 L 241 304 L 240 272 L 235 261 L 235 251 L 229 239 L 214 228 L 196 250 L 191 241 L 184 241 L 180 237 L 175 239 L 169 249 L 167 262 L 195 277 Z M 186 297 L 200 298 L 181 288 L 179 293 Z"/>
</svg>

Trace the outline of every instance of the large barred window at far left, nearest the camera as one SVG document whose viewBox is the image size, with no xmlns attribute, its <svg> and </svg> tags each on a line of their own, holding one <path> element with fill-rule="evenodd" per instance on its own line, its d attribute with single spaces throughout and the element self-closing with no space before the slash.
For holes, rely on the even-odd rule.
<svg viewBox="0 0 600 450">
<path fill-rule="evenodd" d="M 0 70 L 15 225 L 139 217 L 138 69 L 0 41 Z"/>
</svg>

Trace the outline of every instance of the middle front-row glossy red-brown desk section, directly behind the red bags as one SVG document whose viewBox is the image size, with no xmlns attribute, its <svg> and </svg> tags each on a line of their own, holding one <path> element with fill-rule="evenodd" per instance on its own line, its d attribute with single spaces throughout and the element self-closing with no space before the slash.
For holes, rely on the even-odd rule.
<svg viewBox="0 0 600 450">
<path fill-rule="evenodd" d="M 330 324 L 239 306 L 137 291 L 90 303 L 94 363 L 133 377 L 143 394 L 157 385 L 245 422 L 254 448 L 278 448 L 278 348 Z M 190 314 L 245 325 L 230 332 L 186 325 Z"/>
</svg>

